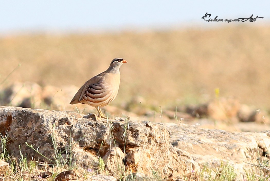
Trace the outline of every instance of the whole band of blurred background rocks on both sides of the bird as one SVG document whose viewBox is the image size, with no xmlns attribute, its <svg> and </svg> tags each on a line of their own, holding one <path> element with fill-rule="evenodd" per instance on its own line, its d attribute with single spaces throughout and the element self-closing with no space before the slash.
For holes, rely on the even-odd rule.
<svg viewBox="0 0 270 181">
<path fill-rule="evenodd" d="M 61 87 L 47 85 L 41 87 L 34 82 L 15 82 L 4 90 L 0 90 L 0 105 L 73 111 L 83 114 L 95 113 L 96 109 L 92 106 L 69 104 L 78 89 L 73 85 Z M 151 102 L 151 105 L 148 105 L 143 97 L 134 96 L 129 102 L 123 103 L 120 107 L 122 108 L 108 105 L 102 110 L 109 117 L 125 116 L 129 117 L 130 120 L 151 120 L 153 122 L 173 122 L 177 121 L 176 118 L 178 120 L 184 119 L 185 122 L 194 122 L 196 121 L 194 118 L 207 118 L 211 122 L 224 122 L 222 124 L 235 124 L 238 122 L 270 124 L 267 112 L 240 104 L 234 98 L 221 97 L 200 105 L 178 106 L 177 111 L 175 111 L 175 108 L 162 110 L 156 102 Z M 202 121 L 199 120 L 198 122 Z"/>
</svg>

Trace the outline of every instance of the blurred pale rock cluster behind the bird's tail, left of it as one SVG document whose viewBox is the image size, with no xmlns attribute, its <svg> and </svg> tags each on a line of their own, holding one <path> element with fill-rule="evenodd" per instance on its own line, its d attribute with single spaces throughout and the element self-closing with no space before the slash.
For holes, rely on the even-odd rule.
<svg viewBox="0 0 270 181">
<path fill-rule="evenodd" d="M 0 105 L 60 111 L 78 110 L 85 113 L 95 111 L 91 106 L 69 104 L 78 89 L 74 85 L 41 87 L 35 82 L 14 82 L 11 86 L 0 90 Z"/>
</svg>

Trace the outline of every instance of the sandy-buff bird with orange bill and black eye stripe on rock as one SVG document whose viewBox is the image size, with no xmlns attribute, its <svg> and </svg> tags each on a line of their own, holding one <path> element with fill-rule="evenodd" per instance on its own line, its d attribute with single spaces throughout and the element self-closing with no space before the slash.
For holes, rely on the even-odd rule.
<svg viewBox="0 0 270 181">
<path fill-rule="evenodd" d="M 78 90 L 70 104 L 87 104 L 97 109 L 99 118 L 105 118 L 100 108 L 116 98 L 120 85 L 120 67 L 127 63 L 123 58 L 115 58 L 109 68 L 86 81 Z"/>
</svg>

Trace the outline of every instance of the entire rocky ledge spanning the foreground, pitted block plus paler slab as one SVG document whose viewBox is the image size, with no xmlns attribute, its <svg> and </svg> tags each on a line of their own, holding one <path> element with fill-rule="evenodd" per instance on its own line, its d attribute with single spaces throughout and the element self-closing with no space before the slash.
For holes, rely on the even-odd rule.
<svg viewBox="0 0 270 181">
<path fill-rule="evenodd" d="M 222 162 L 230 163 L 243 179 L 249 163 L 267 159 L 270 145 L 268 131 L 226 132 L 10 106 L 0 106 L 0 132 L 8 136 L 6 148 L 15 157 L 23 153 L 50 163 L 60 155 L 82 167 L 97 167 L 101 157 L 115 177 L 129 170 L 175 181 L 197 180 L 205 165 L 218 167 Z"/>
</svg>

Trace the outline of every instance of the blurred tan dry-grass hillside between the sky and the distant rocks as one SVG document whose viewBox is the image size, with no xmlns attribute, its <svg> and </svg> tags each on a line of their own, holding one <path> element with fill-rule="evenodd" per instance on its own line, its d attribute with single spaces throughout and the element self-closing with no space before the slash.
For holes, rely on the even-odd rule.
<svg viewBox="0 0 270 181">
<path fill-rule="evenodd" d="M 270 28 L 237 26 L 155 32 L 31 34 L 0 39 L 1 81 L 81 86 L 115 57 L 128 63 L 114 105 L 205 102 L 215 95 L 269 109 Z"/>
</svg>

